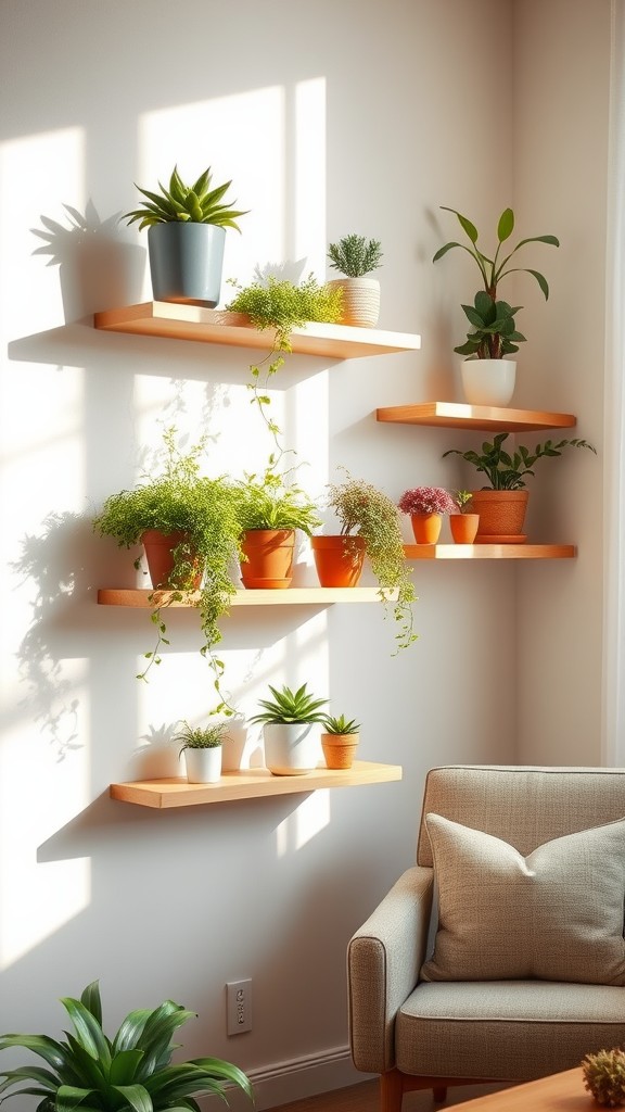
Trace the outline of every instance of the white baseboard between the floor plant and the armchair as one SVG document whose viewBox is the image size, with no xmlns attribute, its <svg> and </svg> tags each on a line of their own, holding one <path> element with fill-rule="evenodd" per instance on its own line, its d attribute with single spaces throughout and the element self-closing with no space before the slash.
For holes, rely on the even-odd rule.
<svg viewBox="0 0 625 1112">
<path fill-rule="evenodd" d="M 316 1096 L 333 1089 L 357 1085 L 374 1076 L 354 1068 L 348 1046 L 336 1046 L 320 1054 L 308 1054 L 289 1062 L 276 1062 L 270 1066 L 248 1070 L 247 1074 L 254 1085 L 256 1112 L 279 1108 L 280 1104 L 289 1104 L 306 1096 Z M 230 1112 L 251 1112 L 249 1101 L 238 1089 L 228 1090 L 228 1103 Z M 207 1112 L 226 1112 L 226 1106 L 218 1096 L 208 1098 L 206 1109 Z"/>
</svg>

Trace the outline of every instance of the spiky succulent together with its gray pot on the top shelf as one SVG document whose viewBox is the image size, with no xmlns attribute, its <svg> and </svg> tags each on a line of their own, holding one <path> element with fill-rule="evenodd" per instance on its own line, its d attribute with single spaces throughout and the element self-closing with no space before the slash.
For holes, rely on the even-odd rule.
<svg viewBox="0 0 625 1112">
<path fill-rule="evenodd" d="M 240 231 L 237 218 L 246 216 L 224 197 L 231 181 L 211 187 L 210 167 L 192 186 L 173 167 L 167 189 L 160 193 L 137 189 L 147 200 L 126 212 L 129 225 L 148 229 L 152 291 L 157 301 L 179 301 L 212 308 L 221 292 L 226 229 Z"/>
</svg>

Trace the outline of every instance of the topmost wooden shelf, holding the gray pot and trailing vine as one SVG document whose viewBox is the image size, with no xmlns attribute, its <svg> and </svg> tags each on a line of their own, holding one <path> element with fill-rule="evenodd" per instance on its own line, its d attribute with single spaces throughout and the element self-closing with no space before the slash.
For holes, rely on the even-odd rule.
<svg viewBox="0 0 625 1112">
<path fill-rule="evenodd" d="M 96 328 L 139 336 L 162 336 L 168 339 L 199 340 L 202 344 L 227 344 L 234 347 L 269 350 L 274 329 L 259 330 L 242 312 L 202 309 L 195 305 L 169 301 L 145 301 L 122 309 L 96 312 Z M 348 325 L 309 324 L 291 331 L 292 350 L 300 355 L 321 355 L 330 359 L 356 359 L 393 351 L 415 351 L 421 346 L 420 336 L 411 332 L 388 332 L 377 328 L 353 328 Z"/>
</svg>

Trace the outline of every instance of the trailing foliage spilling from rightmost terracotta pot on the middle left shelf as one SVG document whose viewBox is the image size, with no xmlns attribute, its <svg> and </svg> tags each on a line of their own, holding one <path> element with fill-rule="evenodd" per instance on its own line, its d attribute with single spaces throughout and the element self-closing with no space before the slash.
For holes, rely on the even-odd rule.
<svg viewBox="0 0 625 1112">
<path fill-rule="evenodd" d="M 343 468 L 346 470 L 345 468 Z M 346 470 L 343 483 L 328 484 L 328 507 L 334 510 L 341 536 L 360 536 L 369 564 L 379 585 L 383 603 L 393 602 L 393 616 L 398 625 L 397 651 L 406 648 L 417 635 L 414 632 L 413 603 L 416 602 L 411 569 L 404 554 L 399 510 L 383 490 Z"/>
</svg>

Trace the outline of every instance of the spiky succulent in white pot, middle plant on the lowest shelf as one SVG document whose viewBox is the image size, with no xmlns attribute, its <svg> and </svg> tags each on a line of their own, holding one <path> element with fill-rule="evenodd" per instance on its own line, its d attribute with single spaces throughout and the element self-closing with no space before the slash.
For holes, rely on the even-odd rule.
<svg viewBox="0 0 625 1112">
<path fill-rule="evenodd" d="M 328 701 L 309 694 L 307 684 L 281 691 L 269 684 L 274 698 L 260 699 L 264 709 L 250 721 L 262 725 L 265 764 L 274 776 L 301 776 L 317 767 L 320 709 Z"/>
</svg>

